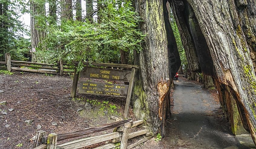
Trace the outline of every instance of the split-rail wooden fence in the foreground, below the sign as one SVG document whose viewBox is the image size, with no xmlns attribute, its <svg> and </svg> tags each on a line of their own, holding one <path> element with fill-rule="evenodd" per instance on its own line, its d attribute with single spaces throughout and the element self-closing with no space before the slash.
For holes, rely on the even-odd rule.
<svg viewBox="0 0 256 149">
<path fill-rule="evenodd" d="M 130 133 L 130 129 L 134 127 L 142 128 L 142 130 Z M 57 144 L 58 141 L 80 137 L 95 132 L 101 132 L 112 128 L 115 128 L 114 132 L 109 134 L 90 136 L 86 138 L 75 139 L 62 144 Z M 118 118 L 114 123 L 93 128 L 85 128 L 64 134 L 51 133 L 48 136 L 45 136 L 45 134 L 45 131 L 36 132 L 34 149 L 78 149 L 109 140 L 111 140 L 109 143 L 107 142 L 105 145 L 96 147 L 94 149 L 115 149 L 119 147 L 120 149 L 131 149 L 152 137 L 151 132 L 145 126 L 143 120 L 132 121 L 131 118 L 127 120 L 121 120 Z M 140 140 L 136 141 L 134 144 L 128 145 L 128 139 L 138 136 L 140 136 Z"/>
</svg>

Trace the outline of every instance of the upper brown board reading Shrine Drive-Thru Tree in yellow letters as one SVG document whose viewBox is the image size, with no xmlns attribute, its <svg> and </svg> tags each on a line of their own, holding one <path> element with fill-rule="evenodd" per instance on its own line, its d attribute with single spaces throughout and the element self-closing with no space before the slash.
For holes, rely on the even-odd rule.
<svg viewBox="0 0 256 149">
<path fill-rule="evenodd" d="M 131 71 L 84 67 L 80 77 L 129 82 Z"/>
</svg>

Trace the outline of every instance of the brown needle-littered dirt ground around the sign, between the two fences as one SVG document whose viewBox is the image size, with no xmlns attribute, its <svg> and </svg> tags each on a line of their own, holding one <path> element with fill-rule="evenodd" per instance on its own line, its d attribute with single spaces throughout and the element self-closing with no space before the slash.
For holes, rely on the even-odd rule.
<svg viewBox="0 0 256 149">
<path fill-rule="evenodd" d="M 77 94 L 77 99 L 71 99 L 71 86 L 70 76 L 19 71 L 0 74 L 0 90 L 4 91 L 0 102 L 7 102 L 0 105 L 0 148 L 32 148 L 31 138 L 38 130 L 60 134 L 114 122 L 111 115 L 122 116 L 124 98 Z M 103 101 L 109 101 L 108 106 Z M 86 102 L 90 103 L 89 108 L 85 107 Z M 131 110 L 129 114 L 132 116 Z M 33 122 L 27 125 L 26 120 Z"/>
</svg>

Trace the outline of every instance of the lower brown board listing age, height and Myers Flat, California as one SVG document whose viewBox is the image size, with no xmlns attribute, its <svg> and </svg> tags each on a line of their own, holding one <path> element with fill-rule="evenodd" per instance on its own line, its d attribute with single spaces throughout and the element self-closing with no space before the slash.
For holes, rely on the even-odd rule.
<svg viewBox="0 0 256 149">
<path fill-rule="evenodd" d="M 129 85 L 99 82 L 81 82 L 79 93 L 126 97 Z"/>
</svg>

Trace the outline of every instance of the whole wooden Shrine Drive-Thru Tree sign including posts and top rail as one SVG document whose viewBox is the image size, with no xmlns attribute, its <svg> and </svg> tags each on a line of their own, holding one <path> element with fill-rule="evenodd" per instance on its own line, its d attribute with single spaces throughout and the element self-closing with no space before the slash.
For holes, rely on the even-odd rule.
<svg viewBox="0 0 256 149">
<path fill-rule="evenodd" d="M 84 64 L 89 65 L 89 63 L 84 63 Z M 84 94 L 94 94 L 94 95 L 103 95 L 103 96 L 126 97 L 125 112 L 124 112 L 124 117 L 126 118 L 128 115 L 128 108 L 129 108 L 130 99 L 131 99 L 131 91 L 132 91 L 133 82 L 134 82 L 135 68 L 139 68 L 139 66 L 127 65 L 127 64 L 113 64 L 113 63 L 93 63 L 92 65 L 112 67 L 112 69 L 99 68 L 99 67 L 84 67 L 84 69 L 80 72 L 80 77 L 129 82 L 129 85 L 113 84 L 113 83 L 108 83 L 107 81 L 106 83 L 81 82 L 78 92 L 84 93 Z M 78 64 L 76 63 L 76 67 L 77 66 Z M 76 89 L 77 89 L 78 77 L 79 77 L 79 74 L 76 73 L 77 71 L 76 67 L 75 67 L 75 75 L 74 75 L 73 86 L 71 91 L 72 98 L 76 96 Z M 113 67 L 129 68 L 131 70 L 113 69 Z"/>
</svg>

